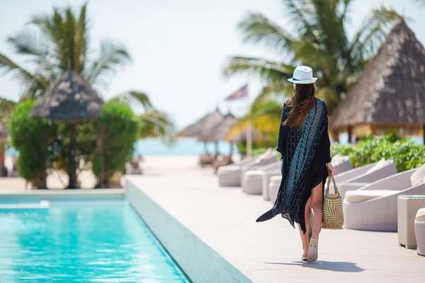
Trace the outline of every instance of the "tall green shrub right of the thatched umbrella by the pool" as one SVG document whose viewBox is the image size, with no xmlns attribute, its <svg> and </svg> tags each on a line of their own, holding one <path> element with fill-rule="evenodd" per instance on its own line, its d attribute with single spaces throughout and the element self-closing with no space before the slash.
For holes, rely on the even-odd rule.
<svg viewBox="0 0 425 283">
<path fill-rule="evenodd" d="M 140 120 L 128 106 L 109 102 L 102 106 L 101 117 L 94 123 L 98 137 L 103 135 L 103 156 L 106 184 L 111 183 L 113 174 L 125 171 L 125 163 L 132 157 L 133 145 L 140 132 Z M 99 151 L 93 159 L 93 172 L 101 174 Z"/>
</svg>

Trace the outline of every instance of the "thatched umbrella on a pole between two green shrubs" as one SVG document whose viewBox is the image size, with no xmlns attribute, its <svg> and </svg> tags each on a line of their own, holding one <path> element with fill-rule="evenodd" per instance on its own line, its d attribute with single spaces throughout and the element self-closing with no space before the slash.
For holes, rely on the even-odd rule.
<svg viewBox="0 0 425 283">
<path fill-rule="evenodd" d="M 71 146 L 69 150 L 69 187 L 76 187 L 75 147 L 77 122 L 101 115 L 103 100 L 79 74 L 71 69 L 57 79 L 38 100 L 31 114 L 33 117 L 59 120 L 69 124 Z"/>
</svg>

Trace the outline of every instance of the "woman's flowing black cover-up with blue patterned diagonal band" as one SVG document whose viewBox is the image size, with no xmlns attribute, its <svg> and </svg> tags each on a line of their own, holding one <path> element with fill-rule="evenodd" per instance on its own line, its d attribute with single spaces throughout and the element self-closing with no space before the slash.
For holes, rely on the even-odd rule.
<svg viewBox="0 0 425 283">
<path fill-rule="evenodd" d="M 288 127 L 282 123 L 290 108 L 283 105 L 278 137 L 278 148 L 282 158 L 282 182 L 272 209 L 256 221 L 266 221 L 277 214 L 305 228 L 305 204 L 313 187 L 327 178 L 326 163 L 331 161 L 328 134 L 327 105 L 316 98 L 307 113 L 302 127 Z"/>
</svg>

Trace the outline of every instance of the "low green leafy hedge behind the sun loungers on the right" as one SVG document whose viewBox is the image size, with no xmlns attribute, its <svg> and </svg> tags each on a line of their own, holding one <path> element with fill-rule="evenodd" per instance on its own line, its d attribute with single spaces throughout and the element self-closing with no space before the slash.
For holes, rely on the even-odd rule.
<svg viewBox="0 0 425 283">
<path fill-rule="evenodd" d="M 354 167 L 378 162 L 380 159 L 392 159 L 398 172 L 417 168 L 425 163 L 425 146 L 408 139 L 398 139 L 394 134 L 380 137 L 368 137 L 356 145 L 331 146 L 331 154 L 350 157 Z"/>
</svg>

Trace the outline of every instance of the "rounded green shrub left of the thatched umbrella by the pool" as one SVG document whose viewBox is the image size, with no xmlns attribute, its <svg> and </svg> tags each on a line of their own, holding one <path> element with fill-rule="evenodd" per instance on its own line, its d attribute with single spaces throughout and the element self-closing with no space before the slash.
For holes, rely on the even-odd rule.
<svg viewBox="0 0 425 283">
<path fill-rule="evenodd" d="M 19 151 L 20 175 L 35 187 L 46 187 L 49 157 L 54 155 L 57 127 L 47 119 L 31 117 L 35 101 L 26 100 L 16 105 L 8 119 L 11 145 Z"/>
</svg>

